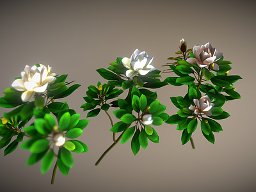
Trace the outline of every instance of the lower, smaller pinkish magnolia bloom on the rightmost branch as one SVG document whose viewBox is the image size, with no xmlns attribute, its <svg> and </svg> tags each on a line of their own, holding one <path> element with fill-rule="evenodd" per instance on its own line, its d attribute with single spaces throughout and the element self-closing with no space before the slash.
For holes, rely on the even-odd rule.
<svg viewBox="0 0 256 192">
<path fill-rule="evenodd" d="M 194 103 L 196 106 L 189 106 L 189 109 L 191 111 L 194 111 L 196 115 L 199 115 L 200 113 L 204 113 L 204 115 L 211 116 L 212 112 L 209 111 L 214 104 L 211 103 L 210 98 L 205 95 L 204 97 L 201 97 L 199 100 L 198 99 L 193 99 Z"/>
</svg>

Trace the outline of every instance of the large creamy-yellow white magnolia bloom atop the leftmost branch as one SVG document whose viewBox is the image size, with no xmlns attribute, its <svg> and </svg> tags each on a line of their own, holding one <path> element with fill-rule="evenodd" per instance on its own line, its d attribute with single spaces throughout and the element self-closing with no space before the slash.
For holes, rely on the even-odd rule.
<svg viewBox="0 0 256 192">
<path fill-rule="evenodd" d="M 26 65 L 24 71 L 21 72 L 22 79 L 16 79 L 12 86 L 20 92 L 24 92 L 21 95 L 23 102 L 27 102 L 31 99 L 35 92 L 42 93 L 46 90 L 48 83 L 55 81 L 56 74 L 50 74 L 51 67 L 45 67 L 40 64 L 40 67 L 29 67 Z M 50 74 L 50 75 L 49 75 Z"/>
</svg>

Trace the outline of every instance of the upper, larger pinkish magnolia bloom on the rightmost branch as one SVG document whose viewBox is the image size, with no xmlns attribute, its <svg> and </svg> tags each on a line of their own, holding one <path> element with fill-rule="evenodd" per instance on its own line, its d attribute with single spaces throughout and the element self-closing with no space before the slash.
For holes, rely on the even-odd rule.
<svg viewBox="0 0 256 192">
<path fill-rule="evenodd" d="M 195 58 L 188 58 L 188 63 L 197 63 L 199 67 L 207 67 L 213 63 L 213 69 L 219 70 L 219 66 L 214 62 L 220 60 L 223 53 L 212 48 L 210 43 L 201 46 L 195 45 L 193 47 L 193 54 Z"/>
</svg>

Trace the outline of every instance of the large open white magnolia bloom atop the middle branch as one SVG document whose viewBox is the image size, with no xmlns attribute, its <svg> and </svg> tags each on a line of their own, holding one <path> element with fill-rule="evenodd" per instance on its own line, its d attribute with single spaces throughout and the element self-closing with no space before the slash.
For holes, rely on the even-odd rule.
<svg viewBox="0 0 256 192">
<path fill-rule="evenodd" d="M 153 56 L 148 56 L 147 52 L 143 51 L 140 52 L 138 49 L 136 49 L 131 56 L 131 59 L 129 58 L 123 58 L 122 63 L 125 68 L 128 68 L 125 75 L 127 77 L 134 77 L 137 74 L 140 74 L 141 76 L 145 76 L 148 72 L 152 70 L 156 70 L 150 63 L 153 60 Z"/>
</svg>

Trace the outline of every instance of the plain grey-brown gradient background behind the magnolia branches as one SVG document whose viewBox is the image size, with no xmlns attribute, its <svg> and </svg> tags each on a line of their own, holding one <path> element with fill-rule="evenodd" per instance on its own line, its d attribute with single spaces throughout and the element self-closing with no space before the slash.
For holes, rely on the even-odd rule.
<svg viewBox="0 0 256 192">
<path fill-rule="evenodd" d="M 87 114 L 80 109 L 87 86 L 106 83 L 95 70 L 109 67 L 116 57 L 130 57 L 137 48 L 164 70 L 161 65 L 175 56 L 181 38 L 189 48 L 210 42 L 232 61 L 230 75 L 243 79 L 235 84 L 242 99 L 223 106 L 231 116 L 218 120 L 223 131 L 215 134 L 214 145 L 198 129 L 193 133 L 196 149 L 190 143 L 182 146 L 176 125 L 163 124 L 156 127 L 158 144 L 149 142 L 134 157 L 131 141 L 119 143 L 95 166 L 112 143 L 108 117 L 100 113 L 89 118 L 79 138 L 90 151 L 72 153 L 74 167 L 68 176 L 58 170 L 53 186 L 53 166 L 41 175 L 40 163 L 25 166 L 30 152 L 17 148 L 3 157 L 1 150 L 0 190 L 255 191 L 255 18 L 255 1 L 1 1 L 1 92 L 25 65 L 50 65 L 52 72 L 82 84 L 65 99 L 81 118 Z M 184 96 L 186 89 L 169 85 L 157 90 L 166 113 L 176 113 L 170 97 Z"/>
</svg>

